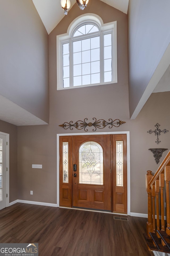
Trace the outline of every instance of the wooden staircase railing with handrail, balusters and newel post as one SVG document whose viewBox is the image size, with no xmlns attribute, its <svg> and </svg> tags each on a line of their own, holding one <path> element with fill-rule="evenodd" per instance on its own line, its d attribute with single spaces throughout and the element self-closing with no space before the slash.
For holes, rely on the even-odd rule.
<svg viewBox="0 0 170 256">
<path fill-rule="evenodd" d="M 150 232 L 156 233 L 156 230 L 166 230 L 167 235 L 170 236 L 169 181 L 170 151 L 154 175 L 151 171 L 147 171 L 146 174 L 146 191 L 148 194 L 148 237 L 151 237 Z M 165 202 L 166 211 L 164 212 Z M 164 216 L 166 216 L 166 224 Z"/>
</svg>

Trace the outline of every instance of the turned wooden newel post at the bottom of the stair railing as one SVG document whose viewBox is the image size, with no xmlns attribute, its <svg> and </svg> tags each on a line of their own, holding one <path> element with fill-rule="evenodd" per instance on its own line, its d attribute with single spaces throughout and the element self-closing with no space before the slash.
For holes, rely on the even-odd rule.
<svg viewBox="0 0 170 256">
<path fill-rule="evenodd" d="M 152 189 L 149 188 L 149 182 L 151 181 L 153 175 L 151 171 L 147 171 L 147 174 L 145 175 L 145 181 L 146 181 L 146 192 L 148 194 L 148 221 L 146 224 L 147 229 L 147 236 L 151 237 L 149 232 L 153 232 L 153 219 L 152 219 Z"/>
</svg>

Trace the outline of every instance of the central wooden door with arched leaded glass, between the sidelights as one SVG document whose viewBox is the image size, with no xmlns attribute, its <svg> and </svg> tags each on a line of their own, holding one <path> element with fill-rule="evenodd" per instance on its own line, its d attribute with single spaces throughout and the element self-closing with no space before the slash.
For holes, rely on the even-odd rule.
<svg viewBox="0 0 170 256">
<path fill-rule="evenodd" d="M 81 150 L 81 145 L 85 142 L 88 142 L 87 146 L 90 144 L 90 151 L 85 149 L 82 153 L 83 168 L 80 172 L 82 163 L 79 164 L 79 148 Z M 93 151 L 95 148 L 93 142 L 98 143 L 103 150 L 103 160 L 100 164 L 98 160 L 99 152 Z M 110 163 L 110 135 L 73 136 L 73 164 L 77 165 L 76 177 L 73 175 L 73 207 L 111 210 Z M 103 182 L 101 179 L 101 182 L 98 181 L 97 177 L 99 175 L 97 172 L 99 170 L 97 165 L 100 165 L 101 169 L 103 168 L 103 173 L 101 173 Z M 85 175 L 84 172 L 86 172 Z M 82 175 L 86 177 L 86 180 L 82 178 Z M 97 180 L 97 183 L 102 185 L 94 184 L 94 180 Z M 92 184 L 89 184 L 90 182 Z"/>
</svg>

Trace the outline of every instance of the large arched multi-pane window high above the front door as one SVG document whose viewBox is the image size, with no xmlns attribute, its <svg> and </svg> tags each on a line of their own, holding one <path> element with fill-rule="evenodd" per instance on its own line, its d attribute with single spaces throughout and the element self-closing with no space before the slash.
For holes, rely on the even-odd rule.
<svg viewBox="0 0 170 256">
<path fill-rule="evenodd" d="M 78 18 L 57 36 L 57 89 L 117 82 L 116 22 Z"/>
</svg>

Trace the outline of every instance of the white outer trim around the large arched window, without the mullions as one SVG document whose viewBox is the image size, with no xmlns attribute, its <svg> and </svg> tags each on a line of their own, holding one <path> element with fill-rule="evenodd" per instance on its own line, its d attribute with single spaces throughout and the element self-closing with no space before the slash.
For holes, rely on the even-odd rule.
<svg viewBox="0 0 170 256">
<path fill-rule="evenodd" d="M 112 79 L 111 82 L 101 82 L 97 84 L 88 84 L 88 85 L 79 85 L 79 86 L 70 86 L 63 88 L 62 83 L 62 42 L 70 42 L 70 40 L 76 40 L 78 37 L 72 37 L 73 32 L 75 31 L 76 27 L 83 23 L 92 22 L 96 24 L 97 27 L 100 27 L 100 33 L 108 34 L 109 30 L 112 31 Z M 99 32 L 96 32 L 99 33 Z M 88 35 L 88 34 L 87 34 Z M 90 35 L 90 34 L 89 34 Z M 85 35 L 86 36 L 86 35 Z M 88 86 L 95 86 L 95 85 L 105 85 L 105 84 L 114 84 L 117 83 L 117 21 L 110 22 L 110 23 L 103 23 L 103 20 L 96 14 L 83 14 L 77 17 L 68 27 L 67 33 L 62 35 L 57 35 L 57 90 L 65 90 L 65 89 L 72 89 L 72 88 L 82 88 Z M 103 47 L 103 46 L 102 46 Z M 71 61 L 71 56 L 70 56 Z M 103 63 L 102 63 L 103 65 Z M 103 74 L 104 75 L 104 74 Z"/>
</svg>

